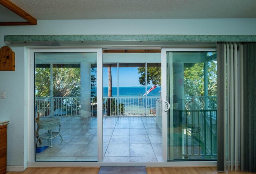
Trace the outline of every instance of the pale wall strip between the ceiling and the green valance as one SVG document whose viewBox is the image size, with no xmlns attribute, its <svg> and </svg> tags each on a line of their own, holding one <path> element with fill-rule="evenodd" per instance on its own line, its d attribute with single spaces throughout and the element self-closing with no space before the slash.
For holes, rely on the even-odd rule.
<svg viewBox="0 0 256 174">
<path fill-rule="evenodd" d="M 255 34 L 256 18 L 159 20 L 38 20 L 36 26 L 0 26 L 1 34 Z M 3 32 L 2 32 L 3 31 Z"/>
</svg>

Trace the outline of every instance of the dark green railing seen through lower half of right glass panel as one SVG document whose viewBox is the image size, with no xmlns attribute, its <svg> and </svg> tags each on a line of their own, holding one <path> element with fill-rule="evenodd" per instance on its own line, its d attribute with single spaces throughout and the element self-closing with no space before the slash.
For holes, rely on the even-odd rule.
<svg viewBox="0 0 256 174">
<path fill-rule="evenodd" d="M 210 113 L 210 114 L 208 114 Z M 179 146 L 176 147 L 179 158 L 216 158 L 217 154 L 217 110 L 176 110 L 174 111 L 174 128 L 182 132 Z M 185 150 L 180 148 L 182 143 Z"/>
</svg>

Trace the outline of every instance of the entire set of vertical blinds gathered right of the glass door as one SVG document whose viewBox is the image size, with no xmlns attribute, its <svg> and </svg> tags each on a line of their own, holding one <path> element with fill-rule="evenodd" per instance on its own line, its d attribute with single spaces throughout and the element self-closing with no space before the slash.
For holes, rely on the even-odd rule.
<svg viewBox="0 0 256 174">
<path fill-rule="evenodd" d="M 217 42 L 218 171 L 256 172 L 256 42 Z"/>
</svg>

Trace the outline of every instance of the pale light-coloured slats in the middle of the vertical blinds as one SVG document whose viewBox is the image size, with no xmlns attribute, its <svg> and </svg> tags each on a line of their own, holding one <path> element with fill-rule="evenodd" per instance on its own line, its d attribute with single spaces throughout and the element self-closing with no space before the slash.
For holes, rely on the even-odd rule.
<svg viewBox="0 0 256 174">
<path fill-rule="evenodd" d="M 238 170 L 240 160 L 240 58 L 238 44 L 226 42 L 227 55 L 227 170 Z"/>
</svg>

